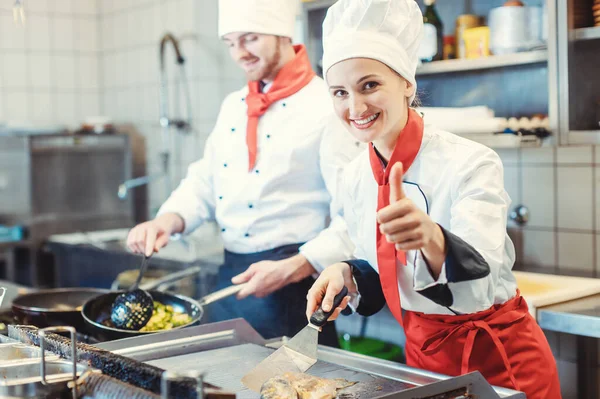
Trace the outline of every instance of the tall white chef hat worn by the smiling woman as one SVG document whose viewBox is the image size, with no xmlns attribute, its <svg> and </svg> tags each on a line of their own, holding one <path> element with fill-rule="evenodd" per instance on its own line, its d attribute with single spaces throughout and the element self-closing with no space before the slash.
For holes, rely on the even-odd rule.
<svg viewBox="0 0 600 399">
<path fill-rule="evenodd" d="M 398 72 L 416 92 L 422 31 L 423 14 L 415 0 L 338 0 L 323 22 L 325 78 L 340 61 L 370 58 Z"/>
</svg>

